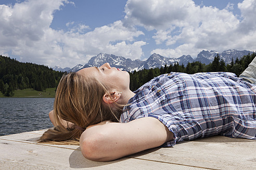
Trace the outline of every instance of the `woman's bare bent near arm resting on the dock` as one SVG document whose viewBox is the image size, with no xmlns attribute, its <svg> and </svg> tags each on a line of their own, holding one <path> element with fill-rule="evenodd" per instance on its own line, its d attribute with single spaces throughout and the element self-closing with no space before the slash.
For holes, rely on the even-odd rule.
<svg viewBox="0 0 256 170">
<path fill-rule="evenodd" d="M 173 133 L 159 120 L 147 117 L 128 123 L 87 127 L 81 135 L 80 146 L 89 160 L 111 161 L 170 140 L 173 140 Z"/>
</svg>

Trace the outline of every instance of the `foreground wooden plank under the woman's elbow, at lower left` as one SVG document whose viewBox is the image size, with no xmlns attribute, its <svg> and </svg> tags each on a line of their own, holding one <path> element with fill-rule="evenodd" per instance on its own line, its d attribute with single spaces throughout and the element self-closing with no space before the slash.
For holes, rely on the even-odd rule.
<svg viewBox="0 0 256 170">
<path fill-rule="evenodd" d="M 77 148 L 37 145 L 14 139 L 0 139 L 0 148 L 1 169 L 201 169 L 133 158 L 94 162 L 85 159 Z"/>
</svg>

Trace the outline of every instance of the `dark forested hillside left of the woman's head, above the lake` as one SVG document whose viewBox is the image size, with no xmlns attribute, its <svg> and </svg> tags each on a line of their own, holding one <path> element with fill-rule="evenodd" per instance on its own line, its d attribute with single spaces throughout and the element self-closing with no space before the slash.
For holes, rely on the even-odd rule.
<svg viewBox="0 0 256 170">
<path fill-rule="evenodd" d="M 44 65 L 22 63 L 0 55 L 0 91 L 5 96 L 13 96 L 18 89 L 44 91 L 55 88 L 62 75 Z"/>
</svg>

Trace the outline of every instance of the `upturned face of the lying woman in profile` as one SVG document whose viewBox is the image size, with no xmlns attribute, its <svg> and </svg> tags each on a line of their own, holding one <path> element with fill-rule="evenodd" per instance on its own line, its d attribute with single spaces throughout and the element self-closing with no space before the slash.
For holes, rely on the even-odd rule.
<svg viewBox="0 0 256 170">
<path fill-rule="evenodd" d="M 105 63 L 100 67 L 83 68 L 77 72 L 83 76 L 93 76 L 99 82 L 110 87 L 112 90 L 125 91 L 130 86 L 130 75 L 116 67 L 111 67 Z"/>
</svg>

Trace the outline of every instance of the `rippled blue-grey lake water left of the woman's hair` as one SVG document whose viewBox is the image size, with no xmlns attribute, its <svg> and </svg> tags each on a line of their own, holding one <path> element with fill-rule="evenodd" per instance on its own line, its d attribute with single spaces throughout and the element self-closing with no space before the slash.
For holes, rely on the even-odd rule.
<svg viewBox="0 0 256 170">
<path fill-rule="evenodd" d="M 52 127 L 54 98 L 0 98 L 0 136 Z"/>
</svg>

